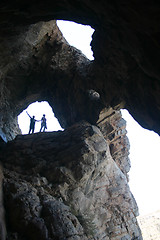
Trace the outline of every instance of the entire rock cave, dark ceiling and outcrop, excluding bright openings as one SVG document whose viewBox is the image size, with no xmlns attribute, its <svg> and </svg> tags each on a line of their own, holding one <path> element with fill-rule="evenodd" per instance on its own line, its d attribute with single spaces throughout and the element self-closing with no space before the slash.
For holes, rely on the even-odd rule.
<svg viewBox="0 0 160 240">
<path fill-rule="evenodd" d="M 0 3 L 0 234 L 5 240 L 142 239 L 121 109 L 160 134 L 160 4 Z M 56 20 L 90 25 L 90 61 Z M 22 135 L 47 101 L 64 131 Z"/>
</svg>

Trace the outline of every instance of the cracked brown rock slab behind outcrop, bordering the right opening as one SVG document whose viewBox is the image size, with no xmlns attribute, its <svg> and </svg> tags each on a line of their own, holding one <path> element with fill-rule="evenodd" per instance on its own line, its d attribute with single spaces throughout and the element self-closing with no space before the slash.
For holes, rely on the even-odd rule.
<svg viewBox="0 0 160 240">
<path fill-rule="evenodd" d="M 130 145 L 126 136 L 126 121 L 122 118 L 121 112 L 111 108 L 109 111 L 104 109 L 99 115 L 97 124 L 106 141 L 109 143 L 114 161 L 128 178 L 127 173 L 131 167 L 128 157 Z"/>
</svg>

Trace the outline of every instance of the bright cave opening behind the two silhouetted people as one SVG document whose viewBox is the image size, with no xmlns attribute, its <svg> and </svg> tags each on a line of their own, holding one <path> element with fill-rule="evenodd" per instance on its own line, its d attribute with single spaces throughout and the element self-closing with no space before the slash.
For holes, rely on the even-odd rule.
<svg viewBox="0 0 160 240">
<path fill-rule="evenodd" d="M 27 115 L 35 116 L 36 120 L 41 120 L 43 114 L 45 114 L 47 119 L 47 129 L 46 132 L 63 130 L 58 122 L 58 119 L 55 117 L 52 108 L 46 101 L 34 102 L 30 104 L 21 114 L 18 116 L 18 124 L 21 129 L 22 134 L 28 134 L 30 118 Z M 35 133 L 40 131 L 41 122 L 35 123 Z"/>
</svg>

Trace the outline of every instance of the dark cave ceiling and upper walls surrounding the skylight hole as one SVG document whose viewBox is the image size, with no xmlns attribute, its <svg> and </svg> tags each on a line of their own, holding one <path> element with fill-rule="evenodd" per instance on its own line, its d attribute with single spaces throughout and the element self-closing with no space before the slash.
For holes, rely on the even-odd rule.
<svg viewBox="0 0 160 240">
<path fill-rule="evenodd" d="M 57 19 L 95 29 L 94 61 L 69 46 Z M 104 108 L 126 108 L 159 134 L 159 41 L 158 1 L 2 0 L 1 137 L 14 138 L 18 114 L 42 100 L 64 128 L 83 119 L 96 124 Z"/>
</svg>

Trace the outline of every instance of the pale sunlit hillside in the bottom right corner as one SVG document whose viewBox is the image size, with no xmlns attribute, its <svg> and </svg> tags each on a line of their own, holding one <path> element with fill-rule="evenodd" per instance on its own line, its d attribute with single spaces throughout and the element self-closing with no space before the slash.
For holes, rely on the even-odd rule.
<svg viewBox="0 0 160 240">
<path fill-rule="evenodd" d="M 137 217 L 143 240 L 160 239 L 160 211 Z"/>
</svg>

